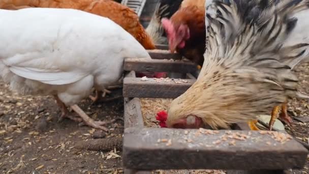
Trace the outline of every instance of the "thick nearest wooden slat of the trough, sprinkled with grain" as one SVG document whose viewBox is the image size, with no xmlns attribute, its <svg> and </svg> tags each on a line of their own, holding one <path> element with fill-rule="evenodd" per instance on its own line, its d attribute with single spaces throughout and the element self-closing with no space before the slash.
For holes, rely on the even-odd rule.
<svg viewBox="0 0 309 174">
<path fill-rule="evenodd" d="M 188 131 L 185 134 L 184 131 Z M 128 128 L 123 139 L 123 166 L 150 169 L 288 169 L 302 168 L 307 151 L 294 139 L 285 143 L 259 131 L 232 131 L 250 135 L 245 140 L 222 140 L 218 134 L 201 134 L 199 130 L 166 128 Z M 251 132 L 251 133 L 249 133 Z M 158 142 L 158 139 L 171 139 Z M 190 139 L 188 142 L 186 139 Z M 221 140 L 218 143 L 218 140 Z M 235 146 L 229 144 L 235 140 Z M 138 142 L 138 143 L 137 143 Z M 216 143 L 217 142 L 217 143 Z"/>
</svg>

